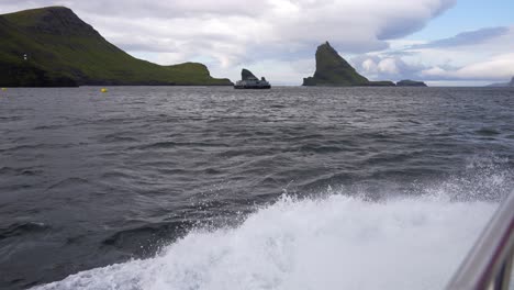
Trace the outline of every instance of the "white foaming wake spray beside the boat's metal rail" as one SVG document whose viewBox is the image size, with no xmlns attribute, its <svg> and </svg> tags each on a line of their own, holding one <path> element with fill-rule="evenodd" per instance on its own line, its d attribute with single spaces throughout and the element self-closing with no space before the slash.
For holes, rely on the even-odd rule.
<svg viewBox="0 0 514 290">
<path fill-rule="evenodd" d="M 236 228 L 41 289 L 443 289 L 498 204 L 283 198 Z"/>
</svg>

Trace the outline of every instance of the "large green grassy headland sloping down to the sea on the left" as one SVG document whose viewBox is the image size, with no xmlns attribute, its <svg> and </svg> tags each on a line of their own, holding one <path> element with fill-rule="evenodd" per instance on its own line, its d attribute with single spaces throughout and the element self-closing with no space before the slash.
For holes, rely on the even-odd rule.
<svg viewBox="0 0 514 290">
<path fill-rule="evenodd" d="M 0 35 L 1 87 L 233 85 L 211 77 L 202 64 L 137 59 L 64 7 L 2 14 Z"/>
</svg>

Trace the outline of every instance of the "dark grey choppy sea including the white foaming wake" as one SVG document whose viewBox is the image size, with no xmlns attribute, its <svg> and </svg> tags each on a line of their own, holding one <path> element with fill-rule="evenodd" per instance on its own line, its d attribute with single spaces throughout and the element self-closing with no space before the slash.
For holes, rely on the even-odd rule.
<svg viewBox="0 0 514 290">
<path fill-rule="evenodd" d="M 514 191 L 509 88 L 0 92 L 0 289 L 443 289 Z"/>
</svg>

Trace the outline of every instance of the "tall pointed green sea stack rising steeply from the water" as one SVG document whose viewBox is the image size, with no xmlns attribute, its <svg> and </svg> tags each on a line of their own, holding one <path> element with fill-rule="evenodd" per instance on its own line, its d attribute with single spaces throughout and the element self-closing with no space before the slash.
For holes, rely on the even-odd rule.
<svg viewBox="0 0 514 290">
<path fill-rule="evenodd" d="M 304 78 L 303 86 L 368 86 L 367 78 L 359 75 L 328 42 L 317 46 L 316 71 Z"/>
</svg>

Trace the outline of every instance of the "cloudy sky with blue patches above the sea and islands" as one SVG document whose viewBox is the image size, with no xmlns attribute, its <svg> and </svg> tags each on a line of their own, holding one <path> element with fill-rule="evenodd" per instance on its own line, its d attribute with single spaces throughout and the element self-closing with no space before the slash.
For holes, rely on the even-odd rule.
<svg viewBox="0 0 514 290">
<path fill-rule="evenodd" d="M 130 54 L 211 75 L 242 67 L 301 85 L 328 41 L 372 80 L 482 86 L 514 76 L 512 0 L 0 0 L 0 13 L 66 5 Z"/>
</svg>

